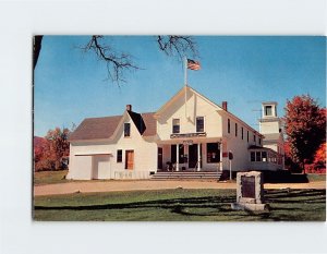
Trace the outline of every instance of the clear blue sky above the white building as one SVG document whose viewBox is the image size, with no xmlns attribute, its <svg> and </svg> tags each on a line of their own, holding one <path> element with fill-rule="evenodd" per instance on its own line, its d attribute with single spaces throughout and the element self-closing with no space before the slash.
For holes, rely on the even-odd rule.
<svg viewBox="0 0 327 254">
<path fill-rule="evenodd" d="M 130 52 L 142 70 L 126 73 L 118 87 L 107 69 L 78 48 L 88 36 L 45 36 L 35 69 L 35 135 L 84 118 L 158 110 L 183 86 L 182 63 L 159 51 L 154 36 L 108 36 L 116 50 Z M 257 129 L 262 101 L 278 102 L 310 94 L 326 107 L 326 37 L 195 36 L 202 70 L 189 84 Z"/>
</svg>

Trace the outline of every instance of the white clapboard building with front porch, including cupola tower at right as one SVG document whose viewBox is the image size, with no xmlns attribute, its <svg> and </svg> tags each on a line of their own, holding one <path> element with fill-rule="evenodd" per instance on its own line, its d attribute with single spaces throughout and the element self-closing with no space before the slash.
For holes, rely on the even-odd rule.
<svg viewBox="0 0 327 254">
<path fill-rule="evenodd" d="M 147 179 L 160 171 L 283 169 L 277 104 L 263 104 L 261 133 L 190 86 L 158 111 L 85 119 L 70 135 L 68 179 Z M 230 157 L 229 157 L 230 156 Z"/>
</svg>

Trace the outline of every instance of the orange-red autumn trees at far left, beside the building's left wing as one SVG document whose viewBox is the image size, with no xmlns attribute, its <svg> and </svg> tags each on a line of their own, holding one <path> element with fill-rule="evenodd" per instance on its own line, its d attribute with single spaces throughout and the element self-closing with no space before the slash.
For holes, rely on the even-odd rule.
<svg viewBox="0 0 327 254">
<path fill-rule="evenodd" d="M 62 159 L 69 156 L 70 145 L 68 142 L 69 129 L 56 128 L 49 130 L 40 145 L 34 146 L 35 170 L 62 169 Z"/>
</svg>

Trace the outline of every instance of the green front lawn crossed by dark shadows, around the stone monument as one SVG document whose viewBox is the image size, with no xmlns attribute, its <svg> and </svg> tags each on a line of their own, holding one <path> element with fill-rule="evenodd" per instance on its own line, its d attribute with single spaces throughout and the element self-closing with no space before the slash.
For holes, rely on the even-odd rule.
<svg viewBox="0 0 327 254">
<path fill-rule="evenodd" d="M 232 210 L 234 190 L 75 193 L 35 197 L 35 220 L 303 221 L 326 220 L 326 190 L 268 190 L 270 211 Z"/>
</svg>

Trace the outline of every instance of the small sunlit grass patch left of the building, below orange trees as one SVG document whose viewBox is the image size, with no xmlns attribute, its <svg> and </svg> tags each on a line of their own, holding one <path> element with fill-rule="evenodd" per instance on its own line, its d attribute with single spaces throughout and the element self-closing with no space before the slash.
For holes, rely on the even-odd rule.
<svg viewBox="0 0 327 254">
<path fill-rule="evenodd" d="M 68 170 L 34 172 L 34 184 L 41 185 L 68 182 L 69 180 L 64 179 L 66 173 Z"/>
</svg>

